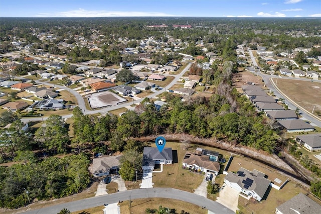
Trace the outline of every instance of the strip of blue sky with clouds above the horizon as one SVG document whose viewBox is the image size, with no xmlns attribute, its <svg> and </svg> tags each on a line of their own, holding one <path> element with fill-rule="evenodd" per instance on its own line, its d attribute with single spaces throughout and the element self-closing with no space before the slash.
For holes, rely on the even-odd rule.
<svg viewBox="0 0 321 214">
<path fill-rule="evenodd" d="M 321 17 L 320 0 L 1 0 L 0 17 Z"/>
</svg>

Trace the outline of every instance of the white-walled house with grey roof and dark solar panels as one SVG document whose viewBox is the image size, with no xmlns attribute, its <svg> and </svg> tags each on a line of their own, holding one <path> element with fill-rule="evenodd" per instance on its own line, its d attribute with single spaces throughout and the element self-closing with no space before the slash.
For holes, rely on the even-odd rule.
<svg viewBox="0 0 321 214">
<path fill-rule="evenodd" d="M 271 181 L 265 178 L 264 173 L 256 169 L 251 172 L 243 167 L 236 173 L 229 172 L 224 178 L 224 183 L 258 201 L 262 200 L 271 185 Z"/>
</svg>

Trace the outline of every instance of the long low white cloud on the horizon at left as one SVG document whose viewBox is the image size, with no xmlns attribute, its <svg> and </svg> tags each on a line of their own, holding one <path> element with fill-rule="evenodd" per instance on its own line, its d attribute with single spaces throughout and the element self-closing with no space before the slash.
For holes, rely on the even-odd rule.
<svg viewBox="0 0 321 214">
<path fill-rule="evenodd" d="M 158 12 L 139 12 L 139 11 L 87 11 L 79 8 L 78 10 L 59 12 L 55 14 L 38 14 L 37 17 L 173 17 L 176 15 Z"/>
</svg>

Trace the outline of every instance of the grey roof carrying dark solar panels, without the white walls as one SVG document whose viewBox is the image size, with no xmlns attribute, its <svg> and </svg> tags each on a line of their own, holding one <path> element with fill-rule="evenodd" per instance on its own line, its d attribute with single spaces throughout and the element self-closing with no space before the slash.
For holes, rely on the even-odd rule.
<svg viewBox="0 0 321 214">
<path fill-rule="evenodd" d="M 264 173 L 256 169 L 251 172 L 241 167 L 236 173 L 229 172 L 225 179 L 229 182 L 237 183 L 242 189 L 254 191 L 262 198 L 271 183 L 264 176 Z"/>
</svg>

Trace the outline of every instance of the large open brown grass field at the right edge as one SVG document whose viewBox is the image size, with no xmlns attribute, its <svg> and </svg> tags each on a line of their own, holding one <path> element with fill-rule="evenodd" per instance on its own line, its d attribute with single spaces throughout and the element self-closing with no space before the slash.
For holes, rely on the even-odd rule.
<svg viewBox="0 0 321 214">
<path fill-rule="evenodd" d="M 290 99 L 300 105 L 308 112 L 312 112 L 314 108 L 314 116 L 321 119 L 315 112 L 321 112 L 321 83 L 302 81 L 295 79 L 279 78 L 273 79 L 277 87 L 286 94 Z"/>
</svg>

